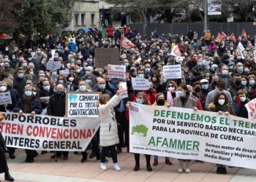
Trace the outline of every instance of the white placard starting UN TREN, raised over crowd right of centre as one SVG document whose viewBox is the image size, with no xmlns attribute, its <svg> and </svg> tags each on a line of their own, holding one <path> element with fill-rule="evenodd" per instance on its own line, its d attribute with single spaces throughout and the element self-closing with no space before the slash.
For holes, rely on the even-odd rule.
<svg viewBox="0 0 256 182">
<path fill-rule="evenodd" d="M 165 79 L 181 79 L 181 65 L 168 65 L 163 68 Z"/>
</svg>

